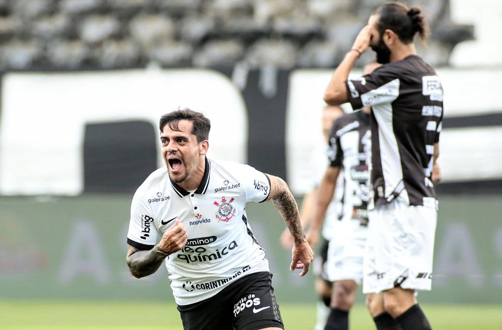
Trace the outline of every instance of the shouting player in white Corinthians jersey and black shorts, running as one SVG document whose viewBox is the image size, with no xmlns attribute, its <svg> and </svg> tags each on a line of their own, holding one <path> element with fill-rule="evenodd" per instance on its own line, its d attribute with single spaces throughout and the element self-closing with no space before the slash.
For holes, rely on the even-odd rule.
<svg viewBox="0 0 502 330">
<path fill-rule="evenodd" d="M 294 237 L 291 270 L 303 276 L 313 254 L 298 207 L 282 179 L 208 159 L 209 129 L 209 119 L 189 109 L 161 117 L 167 168 L 153 172 L 133 198 L 129 270 L 140 278 L 165 261 L 185 330 L 284 329 L 245 205 L 272 201 Z"/>
</svg>

